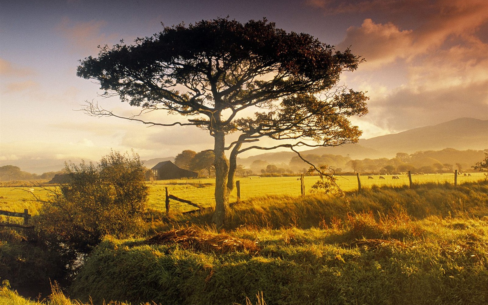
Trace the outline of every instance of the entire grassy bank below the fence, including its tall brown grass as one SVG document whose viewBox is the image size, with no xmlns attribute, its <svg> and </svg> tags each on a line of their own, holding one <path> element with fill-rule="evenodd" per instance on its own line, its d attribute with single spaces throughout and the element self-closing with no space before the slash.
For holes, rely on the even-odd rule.
<svg viewBox="0 0 488 305">
<path fill-rule="evenodd" d="M 106 239 L 66 291 L 95 305 L 255 304 L 260 291 L 267 304 L 488 303 L 488 183 L 263 197 L 220 231 L 210 216 Z"/>
</svg>

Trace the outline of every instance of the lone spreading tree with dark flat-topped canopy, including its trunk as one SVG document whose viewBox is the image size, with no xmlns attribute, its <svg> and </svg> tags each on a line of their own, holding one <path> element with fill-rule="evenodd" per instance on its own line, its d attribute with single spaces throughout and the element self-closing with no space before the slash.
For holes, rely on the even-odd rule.
<svg viewBox="0 0 488 305">
<path fill-rule="evenodd" d="M 134 44 L 121 41 L 81 61 L 77 75 L 100 82 L 105 96 L 164 110 L 181 122 L 121 117 L 87 102 L 94 116 L 115 116 L 150 125 L 194 125 L 214 138 L 215 212 L 224 224 L 237 155 L 250 149 L 335 146 L 357 142 L 361 131 L 348 121 L 367 112 L 363 92 L 339 85 L 344 71 L 362 59 L 335 51 L 308 34 L 287 33 L 273 22 L 218 18 L 164 27 Z M 227 135 L 234 141 L 225 142 Z M 278 140 L 258 145 L 262 138 Z M 229 158 L 226 157 L 226 152 Z"/>
</svg>

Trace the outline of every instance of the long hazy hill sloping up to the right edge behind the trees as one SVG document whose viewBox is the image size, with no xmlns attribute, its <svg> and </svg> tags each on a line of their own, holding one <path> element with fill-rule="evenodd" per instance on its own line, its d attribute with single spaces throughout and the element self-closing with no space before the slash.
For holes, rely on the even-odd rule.
<svg viewBox="0 0 488 305">
<path fill-rule="evenodd" d="M 426 150 L 483 150 L 488 148 L 488 120 L 461 118 L 432 126 L 410 129 L 396 134 L 361 139 L 357 144 L 336 147 L 317 147 L 302 154 L 342 155 L 351 159 L 393 158 L 396 153 L 414 153 Z M 275 152 L 239 159 L 249 166 L 254 160 L 268 163 L 288 163 L 293 152 Z"/>
</svg>

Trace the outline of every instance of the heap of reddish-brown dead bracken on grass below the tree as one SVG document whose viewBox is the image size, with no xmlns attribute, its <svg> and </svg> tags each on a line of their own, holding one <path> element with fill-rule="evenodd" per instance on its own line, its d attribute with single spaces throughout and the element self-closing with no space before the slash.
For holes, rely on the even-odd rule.
<svg viewBox="0 0 488 305">
<path fill-rule="evenodd" d="M 257 242 L 239 240 L 224 234 L 208 234 L 193 228 L 173 229 L 159 233 L 145 241 L 146 244 L 180 244 L 185 248 L 191 248 L 205 252 L 228 253 L 231 251 L 248 250 L 259 251 Z"/>
</svg>

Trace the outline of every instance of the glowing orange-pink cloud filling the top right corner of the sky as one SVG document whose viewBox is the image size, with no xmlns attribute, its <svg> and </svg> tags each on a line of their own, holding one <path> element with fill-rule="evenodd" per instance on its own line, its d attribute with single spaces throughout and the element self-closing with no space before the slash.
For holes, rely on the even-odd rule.
<svg viewBox="0 0 488 305">
<path fill-rule="evenodd" d="M 435 56 L 436 50 L 452 47 L 453 43 L 469 44 L 480 35 L 477 29 L 488 22 L 485 0 L 325 2 L 325 7 L 335 4 L 332 11 L 336 13 L 367 10 L 378 15 L 377 18 L 391 18 L 386 23 L 368 18 L 360 27 L 349 27 L 344 41 L 338 45 L 338 49 L 351 46 L 353 53 L 366 58 L 368 68 L 378 68 L 398 59 L 412 61 L 418 56 Z M 379 6 L 383 2 L 385 5 Z M 394 3 L 398 7 L 393 8 Z M 410 27 L 401 29 L 398 24 L 402 23 Z"/>
</svg>

